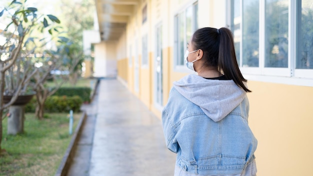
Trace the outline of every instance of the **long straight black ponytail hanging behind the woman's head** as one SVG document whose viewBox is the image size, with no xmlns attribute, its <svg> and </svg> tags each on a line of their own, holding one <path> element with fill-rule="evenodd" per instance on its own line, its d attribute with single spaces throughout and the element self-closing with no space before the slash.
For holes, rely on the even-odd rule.
<svg viewBox="0 0 313 176">
<path fill-rule="evenodd" d="M 231 31 L 221 27 L 217 29 L 217 33 L 219 34 L 218 70 L 224 73 L 226 79 L 232 79 L 244 91 L 251 92 L 242 82 L 247 80 L 242 76 L 237 63 Z"/>
</svg>

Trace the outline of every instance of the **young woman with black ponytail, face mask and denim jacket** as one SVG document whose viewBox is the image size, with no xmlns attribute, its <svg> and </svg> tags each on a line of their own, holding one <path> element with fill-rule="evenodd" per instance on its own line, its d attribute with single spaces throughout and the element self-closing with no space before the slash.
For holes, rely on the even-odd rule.
<svg viewBox="0 0 313 176">
<path fill-rule="evenodd" d="M 187 45 L 190 74 L 173 82 L 162 111 L 174 175 L 254 176 L 257 140 L 248 126 L 246 86 L 227 28 L 196 30 Z"/>
</svg>

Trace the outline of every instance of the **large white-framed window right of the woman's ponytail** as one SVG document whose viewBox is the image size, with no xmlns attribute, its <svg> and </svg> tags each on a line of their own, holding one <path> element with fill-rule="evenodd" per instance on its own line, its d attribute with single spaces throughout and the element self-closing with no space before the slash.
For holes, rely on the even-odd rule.
<svg viewBox="0 0 313 176">
<path fill-rule="evenodd" d="M 313 77 L 312 0 L 228 0 L 242 73 Z"/>
</svg>

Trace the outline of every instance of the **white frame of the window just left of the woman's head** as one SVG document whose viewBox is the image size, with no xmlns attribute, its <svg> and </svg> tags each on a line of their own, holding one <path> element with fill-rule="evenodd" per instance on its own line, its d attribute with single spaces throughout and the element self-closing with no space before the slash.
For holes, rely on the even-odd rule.
<svg viewBox="0 0 313 176">
<path fill-rule="evenodd" d="M 184 6 L 182 6 L 178 11 L 176 11 L 174 13 L 174 50 L 173 50 L 173 66 L 174 66 L 174 71 L 175 72 L 187 72 L 187 73 L 194 73 L 193 71 L 191 71 L 190 69 L 188 69 L 185 64 L 177 64 L 178 61 L 180 61 L 180 58 L 178 57 L 178 15 L 183 13 L 184 15 L 184 24 L 186 23 L 186 17 L 185 17 L 185 11 L 187 8 L 189 8 L 190 6 L 192 7 L 192 20 L 191 20 L 191 30 L 192 30 L 192 33 L 197 29 L 196 27 L 198 27 L 198 21 L 195 21 L 194 18 L 195 18 L 195 9 L 194 9 L 194 6 L 195 5 L 198 5 L 198 1 L 197 0 L 193 0 L 189 3 L 186 3 Z M 197 9 L 198 10 L 198 9 Z M 198 16 L 197 16 L 197 19 L 198 19 Z M 186 33 L 186 28 L 184 27 L 183 28 L 184 30 L 184 33 Z M 184 35 L 184 46 L 183 48 L 186 48 L 187 47 L 187 42 L 188 42 L 188 39 L 189 38 L 186 38 L 186 35 Z M 184 52 L 183 52 L 184 53 Z M 182 54 L 183 54 L 182 53 Z M 182 55 L 183 56 L 183 55 Z"/>
</svg>

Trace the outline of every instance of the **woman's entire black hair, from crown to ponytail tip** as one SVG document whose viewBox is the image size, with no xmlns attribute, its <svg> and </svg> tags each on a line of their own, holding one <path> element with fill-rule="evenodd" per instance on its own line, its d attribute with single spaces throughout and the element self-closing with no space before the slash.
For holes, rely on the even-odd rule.
<svg viewBox="0 0 313 176">
<path fill-rule="evenodd" d="M 216 67 L 219 72 L 223 72 L 226 79 L 232 79 L 244 91 L 251 92 L 242 82 L 247 80 L 240 72 L 233 36 L 228 28 L 199 28 L 193 33 L 191 43 L 193 48 L 203 51 L 205 66 Z"/>
</svg>

